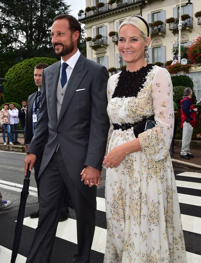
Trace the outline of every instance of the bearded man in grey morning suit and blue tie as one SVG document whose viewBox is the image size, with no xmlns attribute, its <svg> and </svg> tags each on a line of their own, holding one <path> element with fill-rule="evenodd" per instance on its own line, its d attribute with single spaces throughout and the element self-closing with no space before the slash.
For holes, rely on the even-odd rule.
<svg viewBox="0 0 201 263">
<path fill-rule="evenodd" d="M 81 27 L 71 15 L 53 19 L 57 62 L 42 72 L 41 109 L 25 158 L 25 173 L 48 137 L 39 171 L 39 222 L 27 263 L 49 263 L 59 213 L 70 193 L 77 219 L 78 252 L 72 262 L 89 263 L 95 230 L 96 186 L 101 181 L 109 118 L 107 69 L 79 53 Z M 81 181 L 85 167 L 86 178 Z M 89 184 L 88 184 L 89 182 Z"/>
</svg>

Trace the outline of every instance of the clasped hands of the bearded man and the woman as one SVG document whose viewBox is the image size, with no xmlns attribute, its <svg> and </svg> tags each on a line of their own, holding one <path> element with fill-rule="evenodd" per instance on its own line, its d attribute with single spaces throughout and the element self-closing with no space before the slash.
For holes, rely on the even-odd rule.
<svg viewBox="0 0 201 263">
<path fill-rule="evenodd" d="M 81 175 L 82 175 L 81 181 L 84 180 L 84 184 L 88 185 L 89 187 L 92 187 L 94 185 L 98 186 L 102 181 L 101 172 L 89 166 L 86 166 L 82 170 Z"/>
</svg>

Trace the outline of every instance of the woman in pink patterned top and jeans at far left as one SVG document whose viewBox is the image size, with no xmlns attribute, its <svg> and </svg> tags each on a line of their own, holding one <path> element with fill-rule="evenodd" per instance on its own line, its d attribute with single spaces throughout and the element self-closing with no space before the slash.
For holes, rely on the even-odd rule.
<svg viewBox="0 0 201 263">
<path fill-rule="evenodd" d="M 14 145 L 11 140 L 11 128 L 10 128 L 10 115 L 8 113 L 8 104 L 4 104 L 3 109 L 0 111 L 0 123 L 2 128 L 2 137 L 4 141 L 4 145 L 6 145 L 6 137 L 5 137 L 5 130 L 7 130 L 8 138 L 10 141 L 10 145 Z"/>
</svg>

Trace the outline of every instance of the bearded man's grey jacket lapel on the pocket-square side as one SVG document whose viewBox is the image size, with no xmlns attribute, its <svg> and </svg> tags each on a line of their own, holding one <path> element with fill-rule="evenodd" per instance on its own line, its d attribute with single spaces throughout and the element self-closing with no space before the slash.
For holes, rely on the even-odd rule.
<svg viewBox="0 0 201 263">
<path fill-rule="evenodd" d="M 67 87 L 66 87 L 66 91 L 64 93 L 64 97 L 63 97 L 63 102 L 62 102 L 62 106 L 61 106 L 61 110 L 60 110 L 60 114 L 58 117 L 58 123 L 60 122 L 60 120 L 63 117 L 63 114 L 65 113 L 69 103 L 71 102 L 76 89 L 78 88 L 80 82 L 82 81 L 83 77 L 85 76 L 85 74 L 87 73 L 88 70 L 84 70 L 84 61 L 85 61 L 85 57 L 80 54 L 75 67 L 71 73 L 71 77 L 68 81 Z"/>
</svg>

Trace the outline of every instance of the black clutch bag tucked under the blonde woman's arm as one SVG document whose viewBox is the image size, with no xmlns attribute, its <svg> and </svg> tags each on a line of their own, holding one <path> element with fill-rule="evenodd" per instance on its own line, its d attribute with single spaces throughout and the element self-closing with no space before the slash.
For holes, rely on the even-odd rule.
<svg viewBox="0 0 201 263">
<path fill-rule="evenodd" d="M 133 132 L 135 135 L 135 138 L 138 138 L 138 135 L 140 133 L 142 133 L 143 131 L 146 131 L 148 129 L 153 128 L 156 125 L 155 119 L 154 119 L 154 115 L 148 117 L 148 118 L 144 118 L 142 119 L 142 121 L 136 123 L 133 125 Z"/>
</svg>

